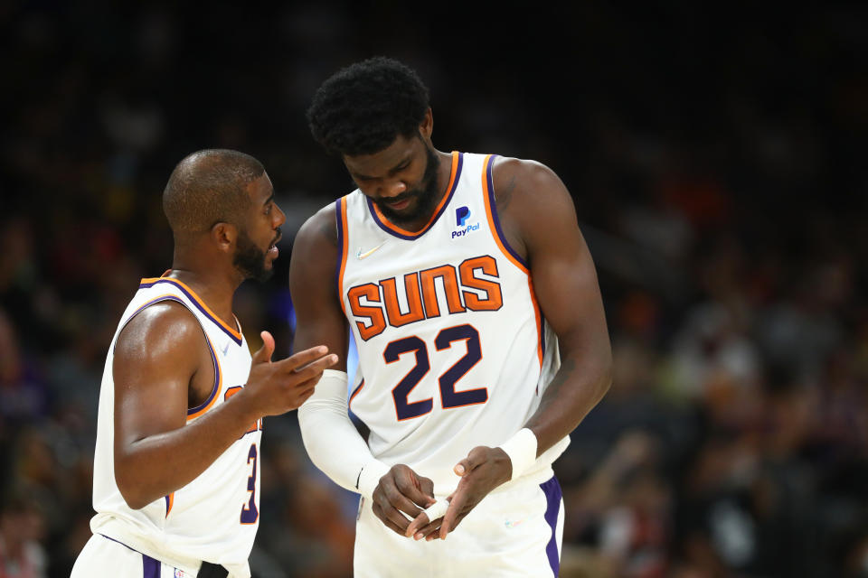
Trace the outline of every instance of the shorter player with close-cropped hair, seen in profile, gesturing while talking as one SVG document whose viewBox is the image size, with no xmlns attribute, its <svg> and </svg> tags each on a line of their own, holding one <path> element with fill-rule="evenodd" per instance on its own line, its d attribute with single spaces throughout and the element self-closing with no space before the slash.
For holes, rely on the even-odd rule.
<svg viewBox="0 0 868 578">
<path fill-rule="evenodd" d="M 286 219 L 262 164 L 206 150 L 163 193 L 172 268 L 143 279 L 109 347 L 99 393 L 93 536 L 73 578 L 250 576 L 262 418 L 300 406 L 337 358 L 312 347 L 250 356 L 232 296 L 264 280 Z"/>
</svg>

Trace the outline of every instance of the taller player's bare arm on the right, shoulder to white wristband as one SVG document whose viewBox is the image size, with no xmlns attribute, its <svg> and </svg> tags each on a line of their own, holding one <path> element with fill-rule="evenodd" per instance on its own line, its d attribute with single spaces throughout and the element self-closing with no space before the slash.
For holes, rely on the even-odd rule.
<svg viewBox="0 0 868 578">
<path fill-rule="evenodd" d="M 561 348 L 561 368 L 526 424 L 539 455 L 609 389 L 609 332 L 594 264 L 561 180 L 540 163 L 516 159 L 499 159 L 493 176 L 505 234 L 530 266 L 537 302 Z"/>
</svg>

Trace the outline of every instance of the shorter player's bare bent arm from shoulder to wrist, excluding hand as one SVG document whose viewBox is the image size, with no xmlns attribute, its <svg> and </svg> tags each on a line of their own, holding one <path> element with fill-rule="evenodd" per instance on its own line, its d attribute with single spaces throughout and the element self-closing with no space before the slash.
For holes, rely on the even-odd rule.
<svg viewBox="0 0 868 578">
<path fill-rule="evenodd" d="M 178 303 L 151 305 L 118 336 L 115 478 L 130 508 L 195 479 L 259 418 L 227 403 L 184 427 L 191 382 L 213 380 L 207 351 L 199 322 Z"/>
</svg>

